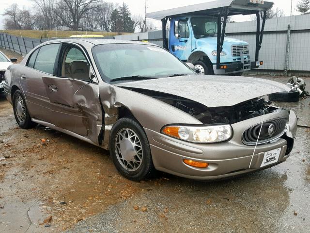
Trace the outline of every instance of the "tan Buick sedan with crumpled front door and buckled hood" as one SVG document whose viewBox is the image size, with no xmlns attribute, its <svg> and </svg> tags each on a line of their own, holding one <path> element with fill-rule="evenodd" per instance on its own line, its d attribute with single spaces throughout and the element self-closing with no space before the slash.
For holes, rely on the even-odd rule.
<svg viewBox="0 0 310 233">
<path fill-rule="evenodd" d="M 286 85 L 198 75 L 144 42 L 48 41 L 8 68 L 4 89 L 21 128 L 41 124 L 109 149 L 135 181 L 155 170 L 210 180 L 275 166 L 297 127 L 293 111 L 262 98 Z"/>
</svg>

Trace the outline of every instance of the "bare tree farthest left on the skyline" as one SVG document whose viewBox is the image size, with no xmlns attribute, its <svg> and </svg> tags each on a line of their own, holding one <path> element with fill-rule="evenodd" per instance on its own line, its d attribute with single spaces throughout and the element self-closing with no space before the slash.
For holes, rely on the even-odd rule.
<svg viewBox="0 0 310 233">
<path fill-rule="evenodd" d="M 30 11 L 25 8 L 19 9 L 16 3 L 4 9 L 2 15 L 7 17 L 4 20 L 4 27 L 6 29 L 32 29 L 34 25 Z"/>
</svg>

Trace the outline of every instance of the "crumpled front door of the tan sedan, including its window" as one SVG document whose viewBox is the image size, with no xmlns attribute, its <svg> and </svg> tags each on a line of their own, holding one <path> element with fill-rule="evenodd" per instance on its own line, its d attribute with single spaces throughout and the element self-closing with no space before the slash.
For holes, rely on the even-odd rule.
<svg viewBox="0 0 310 233">
<path fill-rule="evenodd" d="M 62 44 L 57 77 L 43 77 L 56 127 L 89 138 L 98 145 L 102 125 L 99 87 L 85 51 Z"/>
</svg>

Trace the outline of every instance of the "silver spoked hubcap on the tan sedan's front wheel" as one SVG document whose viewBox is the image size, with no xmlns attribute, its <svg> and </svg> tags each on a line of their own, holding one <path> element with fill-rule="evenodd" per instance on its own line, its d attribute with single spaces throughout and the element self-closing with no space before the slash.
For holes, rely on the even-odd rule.
<svg viewBox="0 0 310 233">
<path fill-rule="evenodd" d="M 138 135 L 124 128 L 116 134 L 115 153 L 119 163 L 128 171 L 136 171 L 142 164 L 143 151 Z"/>
</svg>

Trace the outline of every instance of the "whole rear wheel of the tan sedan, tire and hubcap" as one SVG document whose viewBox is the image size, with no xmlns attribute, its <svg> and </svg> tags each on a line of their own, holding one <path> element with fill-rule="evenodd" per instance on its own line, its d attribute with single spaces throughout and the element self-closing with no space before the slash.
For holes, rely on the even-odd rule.
<svg viewBox="0 0 310 233">
<path fill-rule="evenodd" d="M 25 98 L 20 90 L 16 90 L 13 95 L 13 110 L 17 124 L 22 129 L 30 129 L 37 124 L 31 121 Z"/>
</svg>

